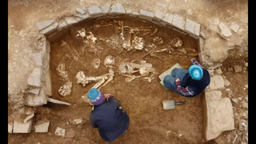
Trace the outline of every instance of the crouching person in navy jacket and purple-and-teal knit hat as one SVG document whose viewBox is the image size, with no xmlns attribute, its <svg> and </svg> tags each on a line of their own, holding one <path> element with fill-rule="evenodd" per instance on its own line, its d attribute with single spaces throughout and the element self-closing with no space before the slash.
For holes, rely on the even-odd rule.
<svg viewBox="0 0 256 144">
<path fill-rule="evenodd" d="M 129 116 L 121 109 L 121 102 L 111 94 L 102 94 L 98 89 L 91 89 L 88 98 L 94 105 L 90 112 L 90 125 L 98 128 L 98 133 L 106 142 L 112 142 L 125 134 L 129 126 Z"/>
</svg>

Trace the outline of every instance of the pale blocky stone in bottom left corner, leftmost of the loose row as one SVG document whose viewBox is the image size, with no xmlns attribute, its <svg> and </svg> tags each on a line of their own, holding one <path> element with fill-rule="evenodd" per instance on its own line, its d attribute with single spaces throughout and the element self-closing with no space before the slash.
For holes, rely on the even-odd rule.
<svg viewBox="0 0 256 144">
<path fill-rule="evenodd" d="M 13 133 L 30 133 L 33 119 L 30 119 L 26 123 L 17 122 L 14 120 Z"/>
</svg>

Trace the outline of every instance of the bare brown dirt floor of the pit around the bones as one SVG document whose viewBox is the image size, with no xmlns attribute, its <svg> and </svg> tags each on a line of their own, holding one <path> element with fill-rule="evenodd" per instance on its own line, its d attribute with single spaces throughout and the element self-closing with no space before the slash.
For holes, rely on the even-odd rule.
<svg viewBox="0 0 256 144">
<path fill-rule="evenodd" d="M 140 22 L 138 19 L 128 18 L 114 18 L 115 20 L 124 21 L 124 26 L 140 27 L 140 26 L 153 26 L 152 32 L 155 28 L 158 28 L 157 34 L 150 36 L 142 36 L 145 39 L 145 46 L 148 46 L 153 42 L 154 37 L 160 37 L 164 43 L 157 45 L 158 50 L 163 46 L 170 45 L 170 41 L 174 38 L 180 38 L 183 42 L 182 47 L 190 47 L 198 49 L 198 41 L 189 36 L 184 36 L 173 30 L 167 30 L 165 28 L 152 25 L 147 22 Z M 102 22 L 103 21 L 103 22 Z M 96 23 L 102 25 L 106 23 L 112 23 L 112 19 L 99 19 Z M 97 129 L 93 129 L 88 121 L 91 106 L 88 106 L 82 101 L 81 96 L 86 94 L 95 82 L 92 82 L 86 86 L 77 84 L 76 74 L 82 70 L 87 76 L 99 76 L 108 73 L 109 68 L 103 66 L 103 61 L 107 55 L 112 55 L 116 58 L 116 64 L 119 65 L 124 58 L 129 60 L 141 60 L 142 55 L 146 54 L 146 51 L 130 51 L 122 50 L 122 42 L 120 41 L 120 31 L 115 31 L 114 26 L 106 26 L 94 28 L 93 21 L 83 22 L 78 26 L 72 27 L 66 34 L 58 38 L 56 41 L 51 42 L 50 46 L 50 70 L 53 98 L 62 100 L 64 102 L 70 102 L 71 106 L 62 106 L 58 104 L 47 104 L 46 106 L 39 106 L 34 118 L 34 122 L 38 122 L 40 119 L 47 118 L 50 120 L 49 132 L 47 134 L 36 134 L 32 131 L 30 134 L 12 134 L 13 137 L 20 139 L 19 143 L 38 142 L 38 138 L 41 139 L 41 143 L 107 143 L 102 140 L 98 134 Z M 85 28 L 86 31 L 91 31 L 97 42 L 94 48 L 84 45 L 81 38 L 76 38 L 77 30 Z M 125 30 L 124 37 L 127 37 L 128 32 Z M 138 34 L 138 36 L 145 34 L 145 32 Z M 101 39 L 105 38 L 105 41 Z M 113 42 L 116 44 L 111 45 L 106 43 L 106 38 L 113 38 Z M 66 46 L 62 46 L 62 41 L 66 42 L 70 49 L 78 51 L 80 57 L 78 62 L 74 62 L 73 58 L 68 57 L 66 54 L 70 54 L 70 51 Z M 85 49 L 82 53 L 82 49 Z M 144 48 L 145 49 L 145 48 Z M 151 50 L 150 48 L 147 48 Z M 95 53 L 96 50 L 96 53 Z M 182 97 L 173 91 L 166 90 L 159 82 L 159 74 L 162 74 L 165 70 L 168 70 L 175 63 L 179 63 L 184 69 L 188 69 L 191 65 L 189 59 L 183 55 L 171 55 L 171 54 L 157 54 L 158 59 L 151 56 L 146 56 L 142 60 L 146 60 L 153 65 L 158 74 L 154 75 L 152 82 L 145 80 L 134 80 L 132 82 L 125 82 L 125 77 L 116 73 L 114 82 L 102 88 L 104 94 L 113 94 L 114 98 L 118 98 L 122 102 L 122 109 L 130 116 L 130 126 L 128 133 L 120 136 L 113 143 L 203 143 L 202 142 L 202 95 L 198 95 L 195 98 Z M 94 58 L 100 58 L 101 64 L 98 70 L 92 68 L 92 60 Z M 196 58 L 190 56 L 190 58 Z M 73 82 L 72 93 L 69 96 L 62 97 L 58 94 L 60 86 L 66 83 L 58 75 L 56 70 L 57 66 L 65 62 L 66 70 L 70 81 Z M 165 99 L 174 99 L 175 102 L 188 102 L 187 105 L 177 106 L 175 110 L 163 110 L 162 101 Z M 71 125 L 69 119 L 83 118 L 85 124 L 81 126 Z M 74 138 L 62 138 L 56 136 L 54 131 L 57 127 L 61 127 L 66 130 L 75 130 Z M 182 134 L 181 137 L 179 135 Z M 15 138 L 15 139 L 16 139 Z M 13 142 L 10 142 L 13 143 Z"/>
</svg>

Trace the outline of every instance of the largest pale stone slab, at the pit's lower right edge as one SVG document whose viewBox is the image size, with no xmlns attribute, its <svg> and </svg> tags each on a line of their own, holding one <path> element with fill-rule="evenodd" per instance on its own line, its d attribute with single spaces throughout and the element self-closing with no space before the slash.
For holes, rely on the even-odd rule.
<svg viewBox="0 0 256 144">
<path fill-rule="evenodd" d="M 234 130 L 233 107 L 230 98 L 222 98 L 222 92 L 206 92 L 203 97 L 203 134 L 206 141 L 217 138 L 226 130 Z"/>
</svg>

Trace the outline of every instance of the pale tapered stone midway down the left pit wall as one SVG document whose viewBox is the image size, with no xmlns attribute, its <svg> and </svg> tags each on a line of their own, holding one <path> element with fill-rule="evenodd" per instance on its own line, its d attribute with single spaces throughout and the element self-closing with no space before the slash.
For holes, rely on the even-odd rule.
<svg viewBox="0 0 256 144">
<path fill-rule="evenodd" d="M 29 78 L 27 78 L 27 83 L 30 86 L 41 86 L 41 78 L 42 78 L 42 68 L 35 67 Z"/>
</svg>

